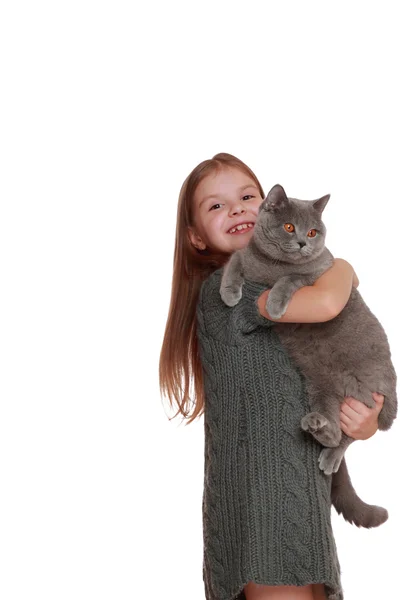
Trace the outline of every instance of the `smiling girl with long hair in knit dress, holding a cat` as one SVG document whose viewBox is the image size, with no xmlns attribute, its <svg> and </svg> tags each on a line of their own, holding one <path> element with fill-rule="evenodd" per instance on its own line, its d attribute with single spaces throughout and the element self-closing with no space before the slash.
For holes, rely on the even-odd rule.
<svg viewBox="0 0 400 600">
<path fill-rule="evenodd" d="M 249 242 L 264 198 L 255 174 L 230 154 L 203 161 L 185 180 L 160 388 L 188 424 L 204 413 L 206 599 L 342 600 L 330 521 L 335 475 L 322 473 L 321 446 L 300 430 L 308 412 L 304 379 L 273 331 L 269 292 L 245 282 L 232 308 L 219 296 L 221 267 Z M 352 285 L 353 268 L 335 259 L 276 321 L 332 319 Z M 368 409 L 344 399 L 347 435 L 367 439 L 377 431 L 383 396 L 374 400 Z"/>
</svg>

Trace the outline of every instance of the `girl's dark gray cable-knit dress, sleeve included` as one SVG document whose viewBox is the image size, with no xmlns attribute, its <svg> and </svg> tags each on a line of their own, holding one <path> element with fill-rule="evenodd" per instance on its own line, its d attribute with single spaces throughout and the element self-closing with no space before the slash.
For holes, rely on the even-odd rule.
<svg viewBox="0 0 400 600">
<path fill-rule="evenodd" d="M 206 600 L 245 600 L 249 581 L 324 583 L 342 600 L 331 477 L 303 432 L 304 378 L 258 312 L 266 286 L 221 300 L 222 269 L 203 282 L 197 334 L 205 387 L 203 580 Z"/>
</svg>

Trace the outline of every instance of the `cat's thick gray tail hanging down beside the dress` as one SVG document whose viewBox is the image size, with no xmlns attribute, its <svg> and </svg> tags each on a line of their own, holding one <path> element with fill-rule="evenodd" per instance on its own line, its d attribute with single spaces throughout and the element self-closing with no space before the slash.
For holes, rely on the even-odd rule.
<svg viewBox="0 0 400 600">
<path fill-rule="evenodd" d="M 357 496 L 344 457 L 338 471 L 332 475 L 331 499 L 339 515 L 357 527 L 378 527 L 389 516 L 385 508 L 366 504 Z"/>
</svg>

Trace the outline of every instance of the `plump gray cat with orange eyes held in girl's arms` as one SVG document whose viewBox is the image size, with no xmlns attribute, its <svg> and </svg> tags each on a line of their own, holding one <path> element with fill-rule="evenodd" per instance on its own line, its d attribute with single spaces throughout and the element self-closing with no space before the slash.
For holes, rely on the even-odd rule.
<svg viewBox="0 0 400 600">
<path fill-rule="evenodd" d="M 288 198 L 275 185 L 259 208 L 247 247 L 232 254 L 224 267 L 221 298 L 235 306 L 244 279 L 272 288 L 266 309 L 280 318 L 293 293 L 312 285 L 333 263 L 325 247 L 322 212 L 330 196 L 307 201 Z M 332 480 L 332 502 L 346 520 L 375 527 L 387 519 L 383 508 L 364 504 L 356 495 L 343 455 L 354 441 L 340 428 L 340 405 L 353 396 L 369 408 L 372 392 L 385 396 L 378 427 L 387 430 L 397 416 L 396 372 L 387 336 L 357 289 L 345 308 L 323 323 L 276 323 L 283 346 L 305 376 L 310 410 L 301 427 L 325 448 L 319 466 Z"/>
</svg>

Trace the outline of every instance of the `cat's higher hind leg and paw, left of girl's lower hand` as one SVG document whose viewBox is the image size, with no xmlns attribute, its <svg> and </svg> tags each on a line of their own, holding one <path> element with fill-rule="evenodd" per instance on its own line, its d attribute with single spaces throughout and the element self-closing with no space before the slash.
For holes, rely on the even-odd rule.
<svg viewBox="0 0 400 600">
<path fill-rule="evenodd" d="M 314 387 L 311 381 L 306 384 L 311 412 L 301 419 L 301 428 L 308 431 L 323 446 L 335 448 L 339 445 L 340 403 L 342 398 L 335 391 L 320 391 L 321 384 Z M 326 385 L 326 389 L 331 386 Z"/>
</svg>

